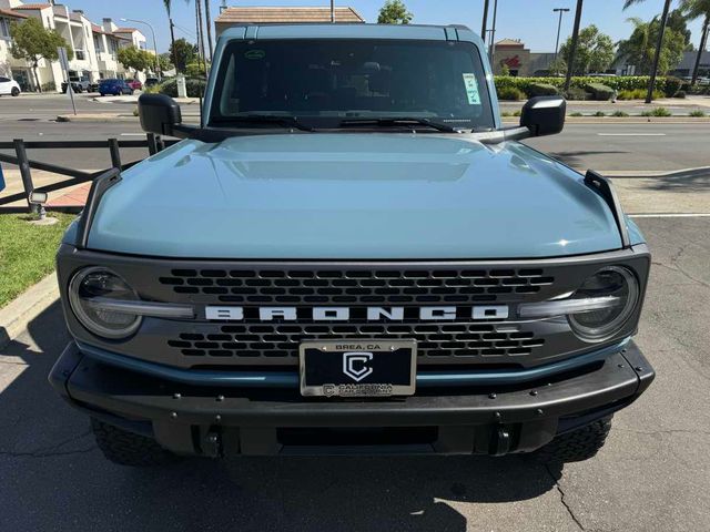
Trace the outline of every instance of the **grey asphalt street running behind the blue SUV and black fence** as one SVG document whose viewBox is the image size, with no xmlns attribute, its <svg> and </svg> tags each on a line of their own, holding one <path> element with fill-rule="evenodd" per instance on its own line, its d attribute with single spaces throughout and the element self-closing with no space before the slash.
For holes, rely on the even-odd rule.
<svg viewBox="0 0 710 532">
<path fill-rule="evenodd" d="M 78 108 L 87 112 L 132 112 L 133 105 L 108 104 L 91 101 L 85 94 L 77 98 Z M 185 112 L 195 113 L 189 106 Z M 136 121 L 113 123 L 58 123 L 60 113 L 67 113 L 68 98 L 27 96 L 0 98 L 0 141 L 26 140 L 97 140 L 115 136 L 140 139 Z M 659 171 L 710 166 L 710 123 L 609 123 L 568 124 L 555 136 L 526 141 L 529 145 L 579 170 L 600 171 Z M 71 151 L 33 151 L 38 160 L 77 166 L 78 156 Z M 145 156 L 143 150 L 125 150 L 124 161 Z M 81 164 L 87 170 L 109 166 L 105 151 L 82 151 Z"/>
</svg>

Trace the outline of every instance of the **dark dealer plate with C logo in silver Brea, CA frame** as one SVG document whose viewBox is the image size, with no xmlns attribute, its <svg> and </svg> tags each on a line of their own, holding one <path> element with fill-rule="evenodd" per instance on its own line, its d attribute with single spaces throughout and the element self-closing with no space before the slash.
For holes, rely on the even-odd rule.
<svg viewBox="0 0 710 532">
<path fill-rule="evenodd" d="M 416 340 L 305 341 L 300 349 L 301 393 L 306 397 L 412 396 Z"/>
</svg>

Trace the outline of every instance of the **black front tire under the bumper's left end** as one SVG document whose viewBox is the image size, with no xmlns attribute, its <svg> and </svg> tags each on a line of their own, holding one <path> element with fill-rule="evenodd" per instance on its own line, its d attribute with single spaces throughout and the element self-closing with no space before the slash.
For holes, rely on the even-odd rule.
<svg viewBox="0 0 710 532">
<path fill-rule="evenodd" d="M 119 466 L 145 468 L 169 466 L 180 460 L 180 457 L 163 449 L 151 438 L 128 432 L 94 418 L 91 418 L 91 430 L 103 456 Z"/>
</svg>

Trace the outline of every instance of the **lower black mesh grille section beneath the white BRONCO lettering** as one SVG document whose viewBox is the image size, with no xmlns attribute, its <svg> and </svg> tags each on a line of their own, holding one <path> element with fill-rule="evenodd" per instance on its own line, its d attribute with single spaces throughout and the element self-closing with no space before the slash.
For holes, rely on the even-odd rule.
<svg viewBox="0 0 710 532">
<path fill-rule="evenodd" d="M 521 357 L 542 347 L 530 331 L 497 331 L 485 324 L 387 325 L 223 325 L 219 332 L 185 332 L 168 341 L 190 358 L 282 358 L 298 356 L 298 344 L 326 338 L 406 338 L 417 340 L 419 359 L 442 357 Z M 293 360 L 285 361 L 293 364 Z M 194 364 L 199 364 L 195 360 Z"/>
</svg>

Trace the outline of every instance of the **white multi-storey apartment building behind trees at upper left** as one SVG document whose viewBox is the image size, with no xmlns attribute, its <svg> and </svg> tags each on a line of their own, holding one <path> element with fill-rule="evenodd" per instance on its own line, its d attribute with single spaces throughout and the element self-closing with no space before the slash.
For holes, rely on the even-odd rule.
<svg viewBox="0 0 710 532">
<path fill-rule="evenodd" d="M 118 50 L 131 45 L 143 50 L 146 48 L 145 35 L 140 30 L 119 28 L 111 19 L 103 19 L 101 24 L 97 24 L 83 11 L 71 10 L 54 1 L 26 3 L 0 0 L 0 75 L 16 79 L 24 91 L 36 90 L 34 76 L 29 64 L 12 58 L 9 29 L 10 22 L 29 17 L 37 18 L 44 28 L 55 30 L 64 38 L 68 48 L 74 51 L 69 62 L 69 73 L 81 80 L 98 82 L 105 78 L 128 78 L 129 73 L 118 61 Z M 58 61 L 40 61 L 38 76 L 43 90 L 60 90 L 64 81 Z M 144 74 L 139 74 L 139 78 L 144 81 Z"/>
</svg>

